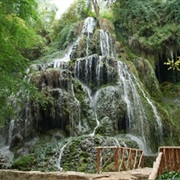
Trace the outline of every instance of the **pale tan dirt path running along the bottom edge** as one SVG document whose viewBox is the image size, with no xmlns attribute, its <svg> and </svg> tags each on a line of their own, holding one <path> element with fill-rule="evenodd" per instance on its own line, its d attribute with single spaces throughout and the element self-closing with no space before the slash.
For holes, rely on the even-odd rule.
<svg viewBox="0 0 180 180">
<path fill-rule="evenodd" d="M 39 172 L 0 170 L 0 180 L 147 180 L 152 168 L 122 172 L 85 174 L 80 172 Z"/>
</svg>

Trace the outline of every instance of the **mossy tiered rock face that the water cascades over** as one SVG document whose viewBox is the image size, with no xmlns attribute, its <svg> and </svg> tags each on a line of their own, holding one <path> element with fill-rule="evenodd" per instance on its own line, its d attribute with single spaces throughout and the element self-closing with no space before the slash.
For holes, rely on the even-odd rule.
<svg viewBox="0 0 180 180">
<path fill-rule="evenodd" d="M 155 102 L 146 91 L 151 84 L 144 77 L 143 86 L 131 68 L 116 57 L 115 49 L 110 33 L 88 18 L 64 58 L 32 65 L 29 77 L 44 95 L 45 106 L 27 97 L 15 120 L 10 147 L 17 149 L 18 142 L 22 148 L 38 133 L 56 129 L 61 135 L 56 135 L 55 150 L 49 153 L 51 165 L 56 170 L 64 166 L 89 172 L 95 169 L 94 147 L 98 145 L 139 146 L 147 154 L 156 151 L 166 135 Z M 144 71 L 150 71 L 150 64 L 141 67 L 141 60 L 132 66 L 141 79 L 147 75 Z M 150 79 L 158 90 L 154 74 Z M 63 137 L 74 138 L 63 144 Z"/>
</svg>

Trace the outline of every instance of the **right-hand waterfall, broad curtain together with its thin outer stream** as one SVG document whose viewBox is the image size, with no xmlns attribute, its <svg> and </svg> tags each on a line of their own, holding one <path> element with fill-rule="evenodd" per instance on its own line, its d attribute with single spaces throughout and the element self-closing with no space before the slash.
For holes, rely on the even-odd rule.
<svg viewBox="0 0 180 180">
<path fill-rule="evenodd" d="M 158 126 L 160 143 L 162 143 L 163 142 L 162 122 L 160 116 L 158 115 L 155 105 L 147 97 L 145 91 L 141 88 L 141 85 L 138 82 L 137 78 L 133 74 L 129 73 L 128 67 L 127 65 L 125 65 L 125 63 L 118 62 L 118 73 L 121 82 L 120 84 L 123 86 L 124 101 L 126 102 L 127 105 L 127 119 L 128 119 L 128 128 L 129 128 L 128 132 L 133 133 L 133 135 L 137 135 L 137 132 L 135 132 L 134 130 L 135 128 L 137 128 L 136 131 L 139 129 L 139 132 L 141 132 L 141 134 L 139 135 L 141 135 L 141 137 L 143 138 L 143 142 L 145 143 L 146 146 L 148 137 L 145 136 L 146 134 L 145 129 L 147 131 L 149 129 L 149 125 L 145 114 L 144 105 L 141 101 L 140 95 L 136 88 L 138 87 L 143 97 L 146 99 L 147 103 L 152 108 L 154 118 Z M 141 122 L 139 125 L 135 122 L 137 115 Z"/>
</svg>

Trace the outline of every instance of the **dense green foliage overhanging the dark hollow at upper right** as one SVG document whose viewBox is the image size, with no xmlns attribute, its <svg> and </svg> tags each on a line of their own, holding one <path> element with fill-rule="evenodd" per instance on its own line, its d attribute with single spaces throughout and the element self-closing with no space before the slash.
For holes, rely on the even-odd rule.
<svg viewBox="0 0 180 180">
<path fill-rule="evenodd" d="M 113 6 L 118 37 L 143 51 L 180 45 L 178 1 L 121 0 Z"/>
</svg>

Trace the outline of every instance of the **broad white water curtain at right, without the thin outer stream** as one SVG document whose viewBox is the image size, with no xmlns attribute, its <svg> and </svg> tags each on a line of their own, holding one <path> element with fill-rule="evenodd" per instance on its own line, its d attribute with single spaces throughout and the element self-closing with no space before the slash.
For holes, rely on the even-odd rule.
<svg viewBox="0 0 180 180">
<path fill-rule="evenodd" d="M 124 62 L 118 62 L 119 85 L 123 88 L 123 98 L 127 106 L 126 124 L 128 133 L 139 134 L 147 147 L 148 137 L 145 136 L 145 126 L 149 129 L 144 106 L 140 95 Z"/>
</svg>

